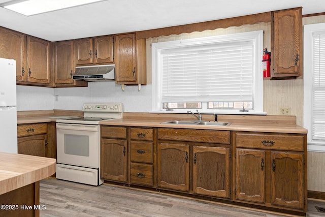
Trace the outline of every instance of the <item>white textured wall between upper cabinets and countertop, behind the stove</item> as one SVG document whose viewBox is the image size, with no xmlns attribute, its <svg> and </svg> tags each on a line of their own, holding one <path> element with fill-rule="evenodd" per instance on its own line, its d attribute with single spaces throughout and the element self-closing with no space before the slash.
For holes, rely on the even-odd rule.
<svg viewBox="0 0 325 217">
<path fill-rule="evenodd" d="M 17 85 L 17 110 L 81 110 L 85 102 L 123 103 L 124 112 L 151 110 L 151 85 L 121 85 L 112 81 L 88 82 L 88 87 L 49 88 Z"/>
</svg>

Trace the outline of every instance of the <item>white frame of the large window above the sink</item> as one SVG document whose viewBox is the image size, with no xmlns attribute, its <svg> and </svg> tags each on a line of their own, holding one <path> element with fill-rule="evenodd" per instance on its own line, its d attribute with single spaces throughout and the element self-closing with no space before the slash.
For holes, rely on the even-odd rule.
<svg viewBox="0 0 325 217">
<path fill-rule="evenodd" d="M 235 33 L 221 36 L 194 38 L 187 40 L 176 40 L 167 42 L 157 42 L 151 44 L 151 69 L 152 69 L 152 111 L 151 112 L 168 112 L 168 113 L 186 113 L 190 109 L 175 109 L 173 111 L 166 111 L 163 109 L 161 102 L 161 51 L 181 46 L 198 45 L 205 43 L 230 43 L 239 41 L 252 41 L 253 42 L 253 85 L 252 85 L 252 103 L 254 109 L 248 112 L 240 112 L 236 109 L 208 109 L 208 103 L 202 103 L 202 113 L 219 113 L 219 114 L 266 114 L 263 111 L 263 68 L 262 68 L 262 55 L 263 55 L 263 30 L 256 30 L 245 33 Z"/>
</svg>

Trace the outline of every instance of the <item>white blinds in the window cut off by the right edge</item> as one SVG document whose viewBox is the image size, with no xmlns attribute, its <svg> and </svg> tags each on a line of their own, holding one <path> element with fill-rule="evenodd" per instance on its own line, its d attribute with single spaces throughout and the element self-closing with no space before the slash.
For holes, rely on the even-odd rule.
<svg viewBox="0 0 325 217">
<path fill-rule="evenodd" d="M 312 138 L 325 140 L 325 32 L 313 34 Z"/>
</svg>

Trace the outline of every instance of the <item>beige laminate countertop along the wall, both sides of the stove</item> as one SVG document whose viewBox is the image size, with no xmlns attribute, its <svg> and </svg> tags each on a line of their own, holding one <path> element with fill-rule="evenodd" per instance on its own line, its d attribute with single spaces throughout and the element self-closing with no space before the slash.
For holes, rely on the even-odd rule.
<svg viewBox="0 0 325 217">
<path fill-rule="evenodd" d="M 43 117 L 22 117 L 17 119 L 18 124 L 39 123 L 56 121 L 56 118 Z M 229 130 L 229 131 L 248 131 L 248 132 L 269 132 L 269 133 L 299 133 L 307 134 L 307 129 L 293 124 L 270 124 L 270 123 L 251 123 L 251 122 L 232 122 L 230 126 L 205 126 L 205 125 L 179 125 L 174 123 L 162 123 L 164 120 L 155 118 L 148 119 L 114 119 L 101 121 L 101 125 L 111 126 L 131 126 L 131 127 L 161 127 L 161 128 L 184 128 L 184 129 L 206 129 L 206 130 Z"/>
</svg>

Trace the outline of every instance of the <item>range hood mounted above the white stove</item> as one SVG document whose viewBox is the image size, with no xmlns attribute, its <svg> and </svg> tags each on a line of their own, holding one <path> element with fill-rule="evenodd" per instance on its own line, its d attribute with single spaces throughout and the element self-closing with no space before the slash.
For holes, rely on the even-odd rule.
<svg viewBox="0 0 325 217">
<path fill-rule="evenodd" d="M 115 65 L 80 66 L 72 77 L 84 81 L 114 81 Z"/>
</svg>

